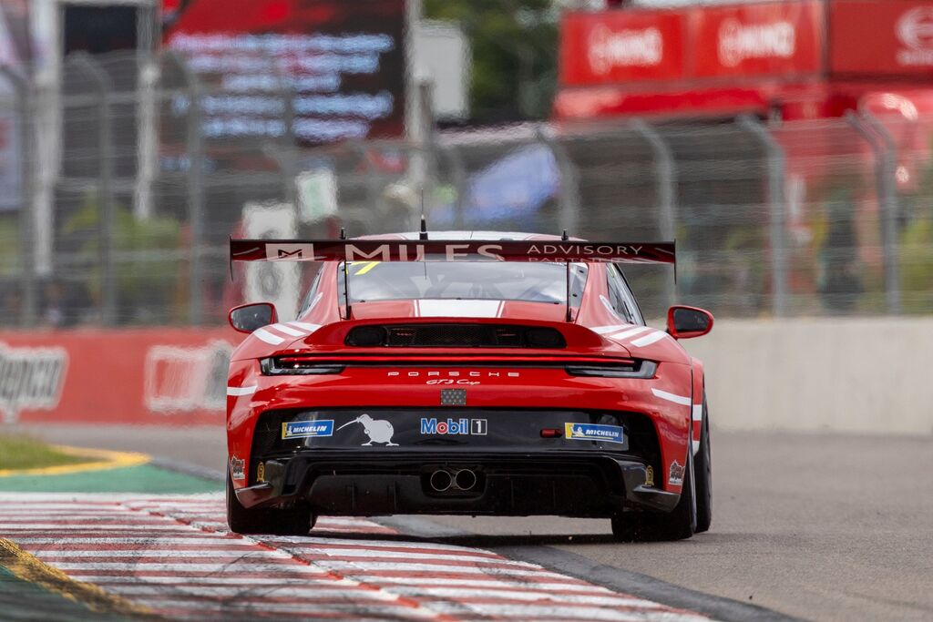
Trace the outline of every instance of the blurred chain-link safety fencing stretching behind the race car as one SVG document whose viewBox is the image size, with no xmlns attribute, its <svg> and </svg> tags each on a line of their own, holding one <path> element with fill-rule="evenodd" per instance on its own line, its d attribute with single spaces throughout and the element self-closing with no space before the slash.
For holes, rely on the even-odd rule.
<svg viewBox="0 0 933 622">
<path fill-rule="evenodd" d="M 63 76 L 51 103 L 15 75 L 0 94 L 7 325 L 211 325 L 244 297 L 292 307 L 298 293 L 277 290 L 308 274 L 238 268 L 231 282 L 230 236 L 410 230 L 421 214 L 434 230 L 674 238 L 676 282 L 627 270 L 655 317 L 673 302 L 735 317 L 933 311 L 933 118 L 905 105 L 312 147 L 272 63 L 259 91 L 204 83 L 169 53 L 77 54 Z"/>
</svg>

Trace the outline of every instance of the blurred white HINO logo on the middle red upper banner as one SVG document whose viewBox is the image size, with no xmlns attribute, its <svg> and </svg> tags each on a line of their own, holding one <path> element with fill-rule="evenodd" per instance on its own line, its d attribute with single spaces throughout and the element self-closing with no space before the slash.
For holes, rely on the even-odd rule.
<svg viewBox="0 0 933 622">
<path fill-rule="evenodd" d="M 719 26 L 719 62 L 735 67 L 747 59 L 789 59 L 797 49 L 797 31 L 789 21 L 744 24 L 724 20 Z"/>
</svg>

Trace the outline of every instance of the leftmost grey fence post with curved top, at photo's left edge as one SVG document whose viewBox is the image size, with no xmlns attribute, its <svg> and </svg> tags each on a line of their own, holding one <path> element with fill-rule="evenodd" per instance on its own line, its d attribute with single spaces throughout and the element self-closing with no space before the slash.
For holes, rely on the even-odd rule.
<svg viewBox="0 0 933 622">
<path fill-rule="evenodd" d="M 31 92 L 29 81 L 9 67 L 0 67 L 16 95 L 16 120 L 20 131 L 20 262 L 21 299 L 19 322 L 23 328 L 35 324 L 38 292 L 35 288 L 35 223 L 33 221 L 33 128 L 29 124 Z"/>
</svg>

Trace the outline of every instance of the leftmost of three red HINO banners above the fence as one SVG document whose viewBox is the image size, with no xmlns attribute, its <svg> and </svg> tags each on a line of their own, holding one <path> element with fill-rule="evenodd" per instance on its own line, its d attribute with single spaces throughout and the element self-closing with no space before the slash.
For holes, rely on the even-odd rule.
<svg viewBox="0 0 933 622">
<path fill-rule="evenodd" d="M 567 13 L 560 76 L 567 86 L 683 77 L 685 20 L 672 11 Z"/>
</svg>

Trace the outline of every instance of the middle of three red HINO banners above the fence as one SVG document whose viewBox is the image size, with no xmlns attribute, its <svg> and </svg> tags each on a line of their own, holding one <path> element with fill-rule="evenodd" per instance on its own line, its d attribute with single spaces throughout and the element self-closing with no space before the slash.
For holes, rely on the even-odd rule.
<svg viewBox="0 0 933 622">
<path fill-rule="evenodd" d="M 823 3 L 772 2 L 691 12 L 697 77 L 818 74 L 826 28 Z"/>
</svg>

